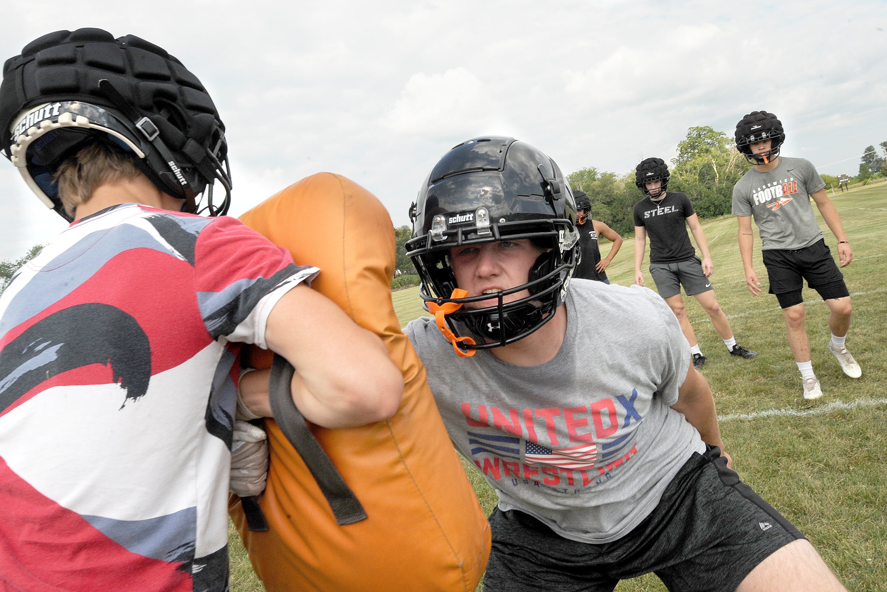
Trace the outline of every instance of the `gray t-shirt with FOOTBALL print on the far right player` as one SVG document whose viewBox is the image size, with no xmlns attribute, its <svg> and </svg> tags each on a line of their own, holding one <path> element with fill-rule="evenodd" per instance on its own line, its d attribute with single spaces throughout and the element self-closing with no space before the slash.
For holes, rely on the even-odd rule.
<svg viewBox="0 0 887 592">
<path fill-rule="evenodd" d="M 803 249 L 822 238 L 808 196 L 826 183 L 810 160 L 779 158 L 772 171 L 751 168 L 736 182 L 733 213 L 755 217 L 762 249 Z"/>
</svg>

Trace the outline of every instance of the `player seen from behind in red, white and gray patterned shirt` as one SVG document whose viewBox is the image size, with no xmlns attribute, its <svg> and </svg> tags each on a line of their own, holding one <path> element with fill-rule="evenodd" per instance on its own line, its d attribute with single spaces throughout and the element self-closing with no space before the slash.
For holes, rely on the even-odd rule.
<svg viewBox="0 0 887 592">
<path fill-rule="evenodd" d="M 0 122 L 70 222 L 0 298 L 0 589 L 224 592 L 232 440 L 262 432 L 235 425 L 229 342 L 298 367 L 319 425 L 389 417 L 403 378 L 318 269 L 224 216 L 224 125 L 167 51 L 43 35 L 5 63 Z"/>
</svg>

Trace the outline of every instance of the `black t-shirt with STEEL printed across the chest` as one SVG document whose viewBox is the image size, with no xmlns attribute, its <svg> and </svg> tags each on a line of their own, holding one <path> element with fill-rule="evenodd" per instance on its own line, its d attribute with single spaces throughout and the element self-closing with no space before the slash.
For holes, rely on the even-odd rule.
<svg viewBox="0 0 887 592">
<path fill-rule="evenodd" d="M 650 237 L 651 263 L 677 263 L 696 254 L 685 222 L 695 213 L 687 193 L 668 191 L 664 199 L 645 198 L 634 205 L 634 225 L 645 227 Z"/>
</svg>

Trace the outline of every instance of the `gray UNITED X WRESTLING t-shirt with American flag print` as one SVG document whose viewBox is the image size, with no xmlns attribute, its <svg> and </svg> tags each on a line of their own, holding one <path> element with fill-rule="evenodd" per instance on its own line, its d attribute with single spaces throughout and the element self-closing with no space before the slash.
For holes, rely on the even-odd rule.
<svg viewBox="0 0 887 592">
<path fill-rule="evenodd" d="M 561 536 L 616 541 L 705 445 L 671 409 L 690 347 L 647 288 L 576 279 L 561 350 L 538 366 L 459 358 L 433 319 L 406 327 L 450 438 L 496 490 Z"/>
</svg>

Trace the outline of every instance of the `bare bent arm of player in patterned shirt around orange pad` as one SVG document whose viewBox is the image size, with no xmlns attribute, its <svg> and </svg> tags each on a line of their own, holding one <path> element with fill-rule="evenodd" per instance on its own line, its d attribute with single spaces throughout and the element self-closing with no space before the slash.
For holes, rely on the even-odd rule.
<svg viewBox="0 0 887 592">
<path fill-rule="evenodd" d="M 328 428 L 365 425 L 395 414 L 404 378 L 381 339 L 351 321 L 332 300 L 298 285 L 271 310 L 268 346 L 293 364 L 293 401 Z M 240 395 L 255 415 L 271 417 L 270 370 L 243 377 Z"/>
</svg>

